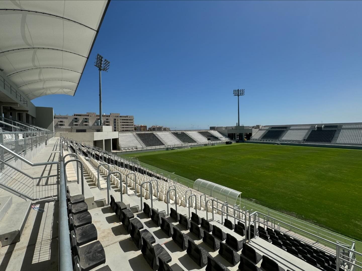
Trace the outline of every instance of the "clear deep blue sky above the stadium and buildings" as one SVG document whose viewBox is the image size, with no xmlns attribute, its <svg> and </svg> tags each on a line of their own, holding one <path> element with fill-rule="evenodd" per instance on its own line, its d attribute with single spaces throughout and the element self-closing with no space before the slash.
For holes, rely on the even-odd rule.
<svg viewBox="0 0 362 271">
<path fill-rule="evenodd" d="M 56 114 L 103 112 L 172 129 L 362 121 L 361 1 L 111 1 L 75 96 Z"/>
</svg>

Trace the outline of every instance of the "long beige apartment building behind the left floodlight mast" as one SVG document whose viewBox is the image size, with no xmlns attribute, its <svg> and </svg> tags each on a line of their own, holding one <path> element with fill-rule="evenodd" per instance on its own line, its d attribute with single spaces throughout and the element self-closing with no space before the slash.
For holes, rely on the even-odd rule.
<svg viewBox="0 0 362 271">
<path fill-rule="evenodd" d="M 102 115 L 102 125 L 112 126 L 114 132 L 131 132 L 134 131 L 134 117 L 125 116 L 119 113 L 110 113 Z M 96 126 L 99 123 L 99 114 L 94 112 L 74 113 L 73 115 L 54 115 L 55 128 L 69 128 L 73 126 Z M 84 127 L 86 126 L 86 127 Z M 81 128 L 81 127 L 79 127 Z"/>
</svg>

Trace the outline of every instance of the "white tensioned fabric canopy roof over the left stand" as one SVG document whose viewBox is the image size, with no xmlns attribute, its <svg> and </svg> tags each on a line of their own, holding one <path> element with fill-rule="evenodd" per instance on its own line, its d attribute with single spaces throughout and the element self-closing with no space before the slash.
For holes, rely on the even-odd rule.
<svg viewBox="0 0 362 271">
<path fill-rule="evenodd" d="M 29 100 L 74 95 L 108 4 L 0 1 L 0 68 Z"/>
</svg>

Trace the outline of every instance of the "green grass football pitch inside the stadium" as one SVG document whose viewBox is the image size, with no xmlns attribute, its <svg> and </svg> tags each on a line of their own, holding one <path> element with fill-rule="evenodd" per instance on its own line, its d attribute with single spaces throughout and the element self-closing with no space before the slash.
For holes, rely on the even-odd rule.
<svg viewBox="0 0 362 271">
<path fill-rule="evenodd" d="M 362 240 L 362 151 L 240 143 L 130 154 Z"/>
</svg>

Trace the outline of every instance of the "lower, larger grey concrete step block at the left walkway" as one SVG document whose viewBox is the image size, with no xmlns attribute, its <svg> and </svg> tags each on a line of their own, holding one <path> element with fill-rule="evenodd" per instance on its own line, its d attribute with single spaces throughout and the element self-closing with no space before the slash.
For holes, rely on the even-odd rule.
<svg viewBox="0 0 362 271">
<path fill-rule="evenodd" d="M 31 201 L 18 202 L 10 206 L 0 223 L 1 246 L 7 246 L 20 241 L 30 207 Z"/>
</svg>

